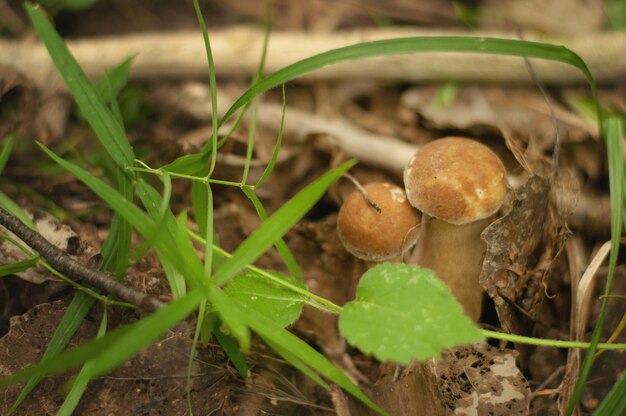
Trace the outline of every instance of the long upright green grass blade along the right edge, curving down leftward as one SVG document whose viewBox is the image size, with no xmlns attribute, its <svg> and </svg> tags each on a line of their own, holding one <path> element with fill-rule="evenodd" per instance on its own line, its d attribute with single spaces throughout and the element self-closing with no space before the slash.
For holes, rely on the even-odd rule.
<svg viewBox="0 0 626 416">
<path fill-rule="evenodd" d="M 585 360 L 580 369 L 576 386 L 572 392 L 572 397 L 567 406 L 565 414 L 570 416 L 580 400 L 580 396 L 585 387 L 594 356 L 597 351 L 608 307 L 608 295 L 611 293 L 615 267 L 619 255 L 620 237 L 622 231 L 622 215 L 624 210 L 624 149 L 623 149 L 623 125 L 618 117 L 608 117 L 602 123 L 604 140 L 607 147 L 609 161 L 609 190 L 611 194 L 611 253 L 609 255 L 609 272 L 604 289 L 604 297 L 600 308 L 600 315 L 596 323 L 593 335 L 591 336 L 591 346 L 585 355 Z"/>
</svg>

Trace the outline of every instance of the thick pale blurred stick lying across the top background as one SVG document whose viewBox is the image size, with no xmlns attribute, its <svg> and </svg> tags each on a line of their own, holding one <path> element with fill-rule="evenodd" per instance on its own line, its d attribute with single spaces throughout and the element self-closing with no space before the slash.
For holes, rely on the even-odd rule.
<svg viewBox="0 0 626 416">
<path fill-rule="evenodd" d="M 250 76 L 258 68 L 263 31 L 233 26 L 214 30 L 211 48 L 221 76 Z M 516 39 L 514 32 L 361 28 L 333 33 L 272 32 L 265 70 L 273 72 L 297 60 L 359 42 L 408 36 L 479 36 Z M 528 35 L 536 40 L 565 45 L 578 53 L 597 81 L 626 76 L 626 33 L 607 32 L 576 37 Z M 206 55 L 199 31 L 154 32 L 78 39 L 68 46 L 89 76 L 96 77 L 128 56 L 135 56 L 134 78 L 206 78 Z M 39 42 L 0 40 L 0 68 L 17 71 L 41 87 L 60 86 L 60 78 Z M 584 76 L 569 65 L 537 60 L 534 69 L 546 84 L 582 84 Z M 302 79 L 377 79 L 404 81 L 514 82 L 531 84 L 522 59 L 472 53 L 417 53 L 389 55 L 331 65 Z"/>
</svg>

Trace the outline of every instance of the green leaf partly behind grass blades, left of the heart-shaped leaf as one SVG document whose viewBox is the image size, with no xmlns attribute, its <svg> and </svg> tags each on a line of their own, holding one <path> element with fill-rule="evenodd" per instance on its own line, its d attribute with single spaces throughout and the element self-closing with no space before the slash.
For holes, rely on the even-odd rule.
<svg viewBox="0 0 626 416">
<path fill-rule="evenodd" d="M 269 273 L 305 289 L 304 284 L 295 279 L 277 272 Z M 291 325 L 298 319 L 304 302 L 303 296 L 249 270 L 231 280 L 224 292 L 235 302 L 246 305 L 281 327 Z"/>
</svg>

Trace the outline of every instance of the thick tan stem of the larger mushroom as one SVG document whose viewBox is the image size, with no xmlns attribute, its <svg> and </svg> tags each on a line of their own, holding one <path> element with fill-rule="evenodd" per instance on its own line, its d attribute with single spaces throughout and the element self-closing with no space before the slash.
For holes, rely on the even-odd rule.
<svg viewBox="0 0 626 416">
<path fill-rule="evenodd" d="M 411 262 L 432 269 L 474 321 L 480 318 L 482 308 L 478 277 L 486 250 L 480 233 L 488 223 L 487 219 L 482 219 L 456 225 L 423 214 L 420 236 L 411 258 Z"/>
</svg>

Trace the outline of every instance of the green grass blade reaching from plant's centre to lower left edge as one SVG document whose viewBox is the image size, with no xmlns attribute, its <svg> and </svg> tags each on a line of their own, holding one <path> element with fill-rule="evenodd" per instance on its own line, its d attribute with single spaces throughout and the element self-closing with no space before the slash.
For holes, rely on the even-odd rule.
<svg viewBox="0 0 626 416">
<path fill-rule="evenodd" d="M 93 378 L 104 374 L 131 358 L 141 348 L 165 333 L 168 328 L 185 319 L 198 307 L 204 296 L 205 293 L 201 290 L 190 291 L 184 297 L 140 321 L 118 328 L 101 339 L 41 360 L 38 364 L 0 379 L 0 387 L 27 381 L 32 377 L 59 373 L 90 360 L 93 362 L 88 371 L 85 371 L 76 381 L 80 382 L 83 377 Z"/>
</svg>

